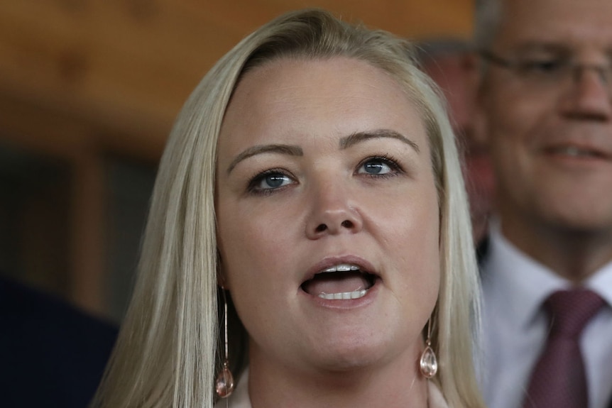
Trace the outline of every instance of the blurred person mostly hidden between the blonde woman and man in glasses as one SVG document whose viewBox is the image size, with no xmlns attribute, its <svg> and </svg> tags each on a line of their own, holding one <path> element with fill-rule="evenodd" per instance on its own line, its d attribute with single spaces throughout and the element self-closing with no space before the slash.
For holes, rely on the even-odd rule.
<svg viewBox="0 0 612 408">
<path fill-rule="evenodd" d="M 474 241 L 486 236 L 493 198 L 493 175 L 486 145 L 474 134 L 474 89 L 470 48 L 461 40 L 437 40 L 420 45 L 422 68 L 437 82 L 448 101 L 449 116 L 459 147 L 465 153 L 466 189 Z"/>
</svg>

